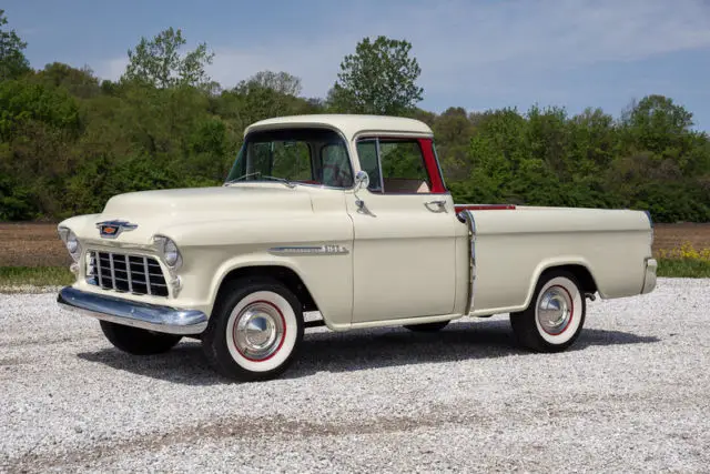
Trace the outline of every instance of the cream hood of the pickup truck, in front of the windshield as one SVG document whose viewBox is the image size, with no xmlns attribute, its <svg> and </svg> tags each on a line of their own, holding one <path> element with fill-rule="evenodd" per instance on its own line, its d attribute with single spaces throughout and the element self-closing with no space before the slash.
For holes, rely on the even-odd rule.
<svg viewBox="0 0 710 474">
<path fill-rule="evenodd" d="M 98 244 L 148 244 L 162 228 L 174 224 L 263 219 L 265 214 L 312 213 L 311 196 L 303 188 L 283 184 L 239 184 L 141 191 L 113 196 L 101 214 L 72 218 L 60 225 L 72 229 L 84 241 Z M 97 223 L 125 221 L 138 225 L 123 230 L 115 239 L 102 239 Z"/>
</svg>

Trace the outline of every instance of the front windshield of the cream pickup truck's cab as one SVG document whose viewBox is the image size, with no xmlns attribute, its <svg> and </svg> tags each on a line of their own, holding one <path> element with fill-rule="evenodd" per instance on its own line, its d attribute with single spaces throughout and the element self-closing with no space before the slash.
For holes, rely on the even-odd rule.
<svg viewBox="0 0 710 474">
<path fill-rule="evenodd" d="M 345 141 L 326 129 L 252 132 L 225 184 L 255 181 L 351 188 L 353 170 Z"/>
</svg>

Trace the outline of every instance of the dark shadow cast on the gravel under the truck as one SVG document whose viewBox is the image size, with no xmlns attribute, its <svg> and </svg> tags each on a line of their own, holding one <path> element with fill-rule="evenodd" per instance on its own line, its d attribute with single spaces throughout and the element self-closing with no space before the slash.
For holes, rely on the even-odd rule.
<svg viewBox="0 0 710 474">
<path fill-rule="evenodd" d="M 589 346 L 648 344 L 655 336 L 622 331 L 585 329 L 569 350 Z M 306 332 L 297 361 L 282 376 L 298 379 L 317 372 L 351 372 L 398 365 L 455 362 L 523 355 L 507 321 L 460 322 L 437 333 L 415 333 L 402 327 L 347 333 Z M 200 343 L 186 340 L 172 351 L 134 356 L 114 347 L 78 354 L 84 361 L 186 385 L 231 383 L 207 364 Z"/>
</svg>

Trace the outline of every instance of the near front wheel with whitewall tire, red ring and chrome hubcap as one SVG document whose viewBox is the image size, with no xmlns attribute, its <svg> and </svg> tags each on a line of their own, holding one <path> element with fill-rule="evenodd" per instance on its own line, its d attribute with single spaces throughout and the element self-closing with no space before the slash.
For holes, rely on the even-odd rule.
<svg viewBox="0 0 710 474">
<path fill-rule="evenodd" d="M 286 286 L 273 280 L 234 282 L 215 305 L 202 346 L 223 375 L 256 381 L 286 370 L 303 340 L 303 310 Z"/>
</svg>

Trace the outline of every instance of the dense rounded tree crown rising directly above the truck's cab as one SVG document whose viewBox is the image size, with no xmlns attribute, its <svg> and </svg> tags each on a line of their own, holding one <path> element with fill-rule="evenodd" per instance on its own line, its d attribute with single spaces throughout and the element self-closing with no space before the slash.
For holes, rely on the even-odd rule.
<svg viewBox="0 0 710 474">
<path fill-rule="evenodd" d="M 363 39 L 355 54 L 341 63 L 337 81 L 328 93 L 338 112 L 403 115 L 412 113 L 424 89 L 416 84 L 422 69 L 405 40 Z"/>
</svg>

